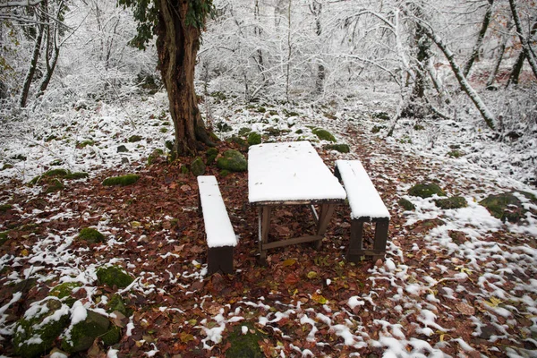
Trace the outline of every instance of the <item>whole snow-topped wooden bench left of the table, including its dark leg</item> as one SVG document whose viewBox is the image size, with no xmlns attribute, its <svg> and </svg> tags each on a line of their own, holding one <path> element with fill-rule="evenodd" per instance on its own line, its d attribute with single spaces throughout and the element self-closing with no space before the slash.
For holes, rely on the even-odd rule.
<svg viewBox="0 0 537 358">
<path fill-rule="evenodd" d="M 226 205 L 213 175 L 198 176 L 200 209 L 203 212 L 205 233 L 207 234 L 207 263 L 209 275 L 222 270 L 231 274 L 233 269 L 233 249 L 237 244 L 233 226 L 227 216 Z"/>
</svg>

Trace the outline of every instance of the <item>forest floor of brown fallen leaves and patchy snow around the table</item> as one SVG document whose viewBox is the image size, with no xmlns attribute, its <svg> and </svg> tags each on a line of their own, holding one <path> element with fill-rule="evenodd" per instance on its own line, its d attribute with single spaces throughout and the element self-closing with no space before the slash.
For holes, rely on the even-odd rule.
<svg viewBox="0 0 537 358">
<path fill-rule="evenodd" d="M 250 122 L 230 122 L 235 132 L 267 116 L 245 117 Z M 85 152 L 77 160 L 93 160 L 89 178 L 64 181 L 64 189 L 53 193 L 16 175 L 0 183 L 5 208 L 0 231 L 8 233 L 0 246 L 0 354 L 14 354 L 15 322 L 30 306 L 51 287 L 73 281 L 81 284 L 74 298 L 86 309 L 105 312 L 120 294 L 129 312 L 111 317 L 122 328 L 121 341 L 105 347 L 97 339 L 84 353 L 93 357 L 254 356 L 249 340 L 259 345 L 258 354 L 282 357 L 537 354 L 537 206 L 527 200 L 523 222 L 509 224 L 478 203 L 491 193 L 537 192 L 465 160 L 411 152 L 399 141 L 371 134 L 371 124 L 330 121 L 326 115 L 303 124 L 323 126 L 349 144 L 348 154 L 316 144 L 329 167 L 337 158 L 362 160 L 391 215 L 386 260 L 345 262 L 350 216 L 340 206 L 319 251 L 308 244 L 275 249 L 261 266 L 247 174 L 223 176 L 213 165 L 206 175 L 217 176 L 239 243 L 234 275 L 208 277 L 196 178 L 181 171 L 192 158 L 173 163 L 158 158 L 148 166 L 147 153 L 162 146 L 164 131 L 139 122 L 138 131 L 146 134 L 137 144 L 113 131 L 99 137 L 106 127 L 99 124 L 90 144 L 95 148 L 78 148 Z M 106 144 L 110 138 L 129 147 L 134 157 L 127 164 L 103 154 L 115 152 L 116 145 Z M 237 143 L 218 144 L 220 153 L 229 148 L 247 155 Z M 113 164 L 99 165 L 107 161 Z M 124 174 L 141 179 L 124 187 L 102 185 L 108 176 Z M 468 207 L 439 209 L 433 199 L 407 194 L 422 182 L 465 197 Z M 416 209 L 405 211 L 401 198 Z M 279 209 L 271 232 L 284 237 L 308 232 L 309 213 Z M 107 242 L 75 240 L 88 226 L 106 234 Z M 371 227 L 366 236 L 371 240 Z M 126 268 L 134 283 L 128 289 L 99 285 L 96 270 L 108 264 Z"/>
</svg>

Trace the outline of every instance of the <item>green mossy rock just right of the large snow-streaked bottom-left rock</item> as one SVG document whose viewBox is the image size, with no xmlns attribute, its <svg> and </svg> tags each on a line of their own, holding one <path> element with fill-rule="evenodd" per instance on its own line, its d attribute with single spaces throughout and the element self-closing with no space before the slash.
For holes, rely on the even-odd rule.
<svg viewBox="0 0 537 358">
<path fill-rule="evenodd" d="M 119 332 L 107 317 L 95 311 L 87 310 L 86 320 L 72 326 L 69 337 L 64 337 L 62 349 L 67 353 L 86 351 L 93 345 L 97 337 L 101 337 L 105 345 L 119 342 Z"/>
</svg>

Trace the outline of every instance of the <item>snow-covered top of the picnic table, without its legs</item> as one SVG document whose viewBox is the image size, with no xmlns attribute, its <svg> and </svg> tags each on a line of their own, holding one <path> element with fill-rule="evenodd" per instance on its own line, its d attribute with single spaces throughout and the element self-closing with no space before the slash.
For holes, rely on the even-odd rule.
<svg viewBox="0 0 537 358">
<path fill-rule="evenodd" d="M 309 141 L 267 143 L 248 151 L 251 203 L 345 200 L 336 176 Z"/>
</svg>

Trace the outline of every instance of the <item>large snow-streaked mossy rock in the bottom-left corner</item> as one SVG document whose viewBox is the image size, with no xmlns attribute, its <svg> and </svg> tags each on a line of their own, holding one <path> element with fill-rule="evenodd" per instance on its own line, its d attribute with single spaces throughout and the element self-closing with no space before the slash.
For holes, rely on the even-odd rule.
<svg viewBox="0 0 537 358">
<path fill-rule="evenodd" d="M 38 357 L 47 354 L 54 341 L 69 324 L 69 308 L 55 298 L 47 298 L 38 303 L 40 309 L 19 320 L 14 329 L 13 347 L 15 354 L 21 357 Z M 29 310 L 29 311 L 30 311 Z M 28 312 L 28 311 L 27 311 Z"/>
</svg>

